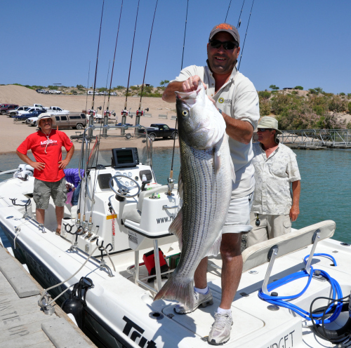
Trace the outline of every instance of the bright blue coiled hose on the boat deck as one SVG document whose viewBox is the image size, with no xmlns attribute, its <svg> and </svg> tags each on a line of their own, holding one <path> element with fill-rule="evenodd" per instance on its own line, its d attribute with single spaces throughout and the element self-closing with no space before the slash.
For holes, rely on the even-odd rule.
<svg viewBox="0 0 351 348">
<path fill-rule="evenodd" d="M 304 258 L 304 262 L 305 264 L 307 263 L 307 258 L 310 255 L 307 255 Z M 334 259 L 333 256 L 329 255 L 329 254 L 324 254 L 324 253 L 320 253 L 320 254 L 314 254 L 314 256 L 324 256 L 324 257 L 329 257 L 331 260 L 333 260 L 334 262 L 334 266 L 336 266 L 336 260 Z M 335 302 L 337 302 L 338 300 L 340 300 L 341 298 L 343 298 L 343 291 L 340 288 L 340 285 L 338 283 L 338 281 L 336 281 L 335 279 L 333 279 L 331 276 L 329 276 L 328 273 L 326 273 L 325 271 L 323 271 L 322 269 L 316 269 L 318 271 L 321 272 L 321 276 L 324 276 L 324 278 L 326 278 L 327 281 L 329 281 L 329 283 L 331 284 L 331 290 L 332 290 L 332 295 L 331 298 L 333 298 L 333 300 L 335 300 Z M 284 284 L 290 283 L 291 281 L 295 281 L 297 279 L 300 278 L 304 278 L 305 276 L 308 277 L 307 280 L 307 284 L 305 286 L 305 288 L 303 288 L 303 290 L 298 293 L 297 295 L 291 295 L 291 296 L 270 296 L 270 295 L 265 295 L 265 293 L 262 292 L 262 289 L 258 292 L 258 297 L 260 297 L 261 300 L 267 301 L 270 304 L 275 304 L 279 307 L 285 307 L 288 309 L 291 309 L 293 312 L 295 312 L 296 314 L 298 314 L 299 316 L 302 316 L 304 319 L 307 320 L 311 320 L 311 317 L 314 320 L 314 322 L 316 324 L 322 324 L 322 319 L 318 319 L 321 318 L 324 314 L 320 313 L 320 314 L 314 314 L 314 313 L 310 313 L 310 312 L 306 312 L 304 309 L 296 306 L 295 304 L 292 304 L 290 302 L 287 302 L 289 300 L 294 300 L 298 297 L 300 297 L 301 295 L 303 295 L 303 293 L 305 293 L 305 291 L 307 290 L 308 286 L 310 286 L 311 280 L 312 280 L 312 276 L 314 273 L 314 269 L 313 267 L 311 267 L 310 269 L 310 274 L 308 274 L 306 272 L 306 270 L 302 270 L 293 274 L 289 274 L 289 276 L 285 276 L 282 279 L 279 279 L 278 281 L 274 281 L 273 283 L 268 284 L 267 286 L 267 290 L 271 293 L 272 290 L 279 288 L 279 286 L 283 286 Z M 334 304 L 335 302 L 332 302 L 331 304 L 329 304 L 328 309 L 326 309 L 325 313 L 329 313 L 331 312 L 331 310 L 333 309 L 333 314 L 331 316 L 329 316 L 328 319 L 324 319 L 324 323 L 331 323 L 332 321 L 336 320 L 336 318 L 338 318 L 341 309 L 343 307 L 343 303 L 342 302 L 338 302 L 338 304 Z M 335 307 L 335 308 L 334 308 Z"/>
</svg>

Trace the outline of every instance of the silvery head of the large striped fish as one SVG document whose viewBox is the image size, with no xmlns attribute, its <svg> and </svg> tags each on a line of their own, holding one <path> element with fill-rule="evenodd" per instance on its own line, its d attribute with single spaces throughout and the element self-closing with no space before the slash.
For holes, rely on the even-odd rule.
<svg viewBox="0 0 351 348">
<path fill-rule="evenodd" d="M 210 149 L 223 138 L 225 121 L 201 82 L 196 91 L 176 92 L 176 110 L 179 138 L 190 147 Z"/>
</svg>

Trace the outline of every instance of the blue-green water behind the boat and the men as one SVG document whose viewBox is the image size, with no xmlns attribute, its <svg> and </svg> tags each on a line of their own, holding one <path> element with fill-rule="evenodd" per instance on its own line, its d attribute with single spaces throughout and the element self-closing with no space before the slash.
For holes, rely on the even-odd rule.
<svg viewBox="0 0 351 348">
<path fill-rule="evenodd" d="M 336 222 L 333 238 L 351 243 L 349 228 L 350 213 L 348 199 L 351 192 L 349 170 L 350 149 L 328 149 L 319 151 L 293 150 L 297 154 L 301 175 L 300 215 L 294 228 L 302 228 L 323 220 Z M 154 149 L 153 168 L 157 181 L 166 184 L 171 168 L 172 149 Z M 110 156 L 108 152 L 107 156 Z M 79 153 L 69 163 L 77 168 Z M 0 170 L 17 168 L 20 159 L 16 154 L 0 155 Z M 173 164 L 173 178 L 177 182 L 180 170 L 179 149 Z M 11 175 L 0 175 L 0 181 Z M 1 236 L 1 231 L 0 231 Z"/>
</svg>

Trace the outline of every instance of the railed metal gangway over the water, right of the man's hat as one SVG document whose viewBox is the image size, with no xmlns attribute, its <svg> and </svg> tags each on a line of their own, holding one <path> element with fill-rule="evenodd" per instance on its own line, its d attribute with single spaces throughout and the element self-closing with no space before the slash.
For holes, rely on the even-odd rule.
<svg viewBox="0 0 351 348">
<path fill-rule="evenodd" d="M 282 131 L 279 140 L 291 149 L 350 149 L 350 129 L 300 129 Z"/>
</svg>

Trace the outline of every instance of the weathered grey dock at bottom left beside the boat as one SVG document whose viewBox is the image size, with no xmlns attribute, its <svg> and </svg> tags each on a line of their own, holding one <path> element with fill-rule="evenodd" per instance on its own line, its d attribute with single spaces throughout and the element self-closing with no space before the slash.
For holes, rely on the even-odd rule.
<svg viewBox="0 0 351 348">
<path fill-rule="evenodd" d="M 62 311 L 44 314 L 38 305 L 43 289 L 0 244 L 0 347 L 96 347 Z"/>
</svg>

